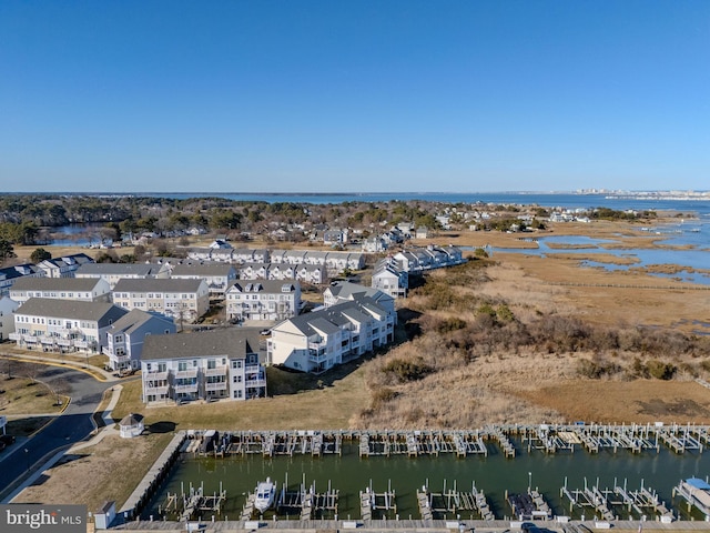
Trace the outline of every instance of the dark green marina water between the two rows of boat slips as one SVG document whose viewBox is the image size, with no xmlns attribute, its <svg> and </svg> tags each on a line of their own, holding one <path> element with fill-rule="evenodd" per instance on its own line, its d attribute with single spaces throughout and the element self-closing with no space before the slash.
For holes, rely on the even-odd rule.
<svg viewBox="0 0 710 533">
<path fill-rule="evenodd" d="M 254 455 L 233 455 L 227 457 L 193 457 L 183 455 L 178 461 L 166 481 L 156 492 L 146 510 L 144 519 L 158 517 L 164 509 L 168 493 L 189 492 L 193 487 L 203 486 L 204 493 L 211 495 L 221 489 L 226 491 L 226 504 L 222 517 L 240 520 L 241 510 L 246 495 L 254 492 L 256 484 L 271 477 L 277 483 L 277 491 L 287 481 L 288 490 L 296 491 L 304 483 L 308 487 L 315 483 L 315 492 L 326 492 L 328 486 L 339 491 L 338 517 L 353 520 L 361 517 L 359 491 L 372 486 L 374 492 L 392 489 L 396 494 L 396 515 L 402 520 L 419 519 L 416 491 L 427 485 L 430 492 L 446 492 L 456 487 L 458 491 L 471 491 L 475 483 L 478 491 L 484 491 L 488 504 L 497 519 L 511 517 L 506 503 L 506 491 L 524 493 L 528 486 L 537 487 L 545 496 L 556 515 L 580 519 L 592 517 L 590 507 L 575 506 L 570 509 L 567 497 L 560 495 L 564 485 L 570 491 L 582 490 L 585 483 L 599 489 L 627 486 L 628 490 L 645 487 L 655 490 L 673 514 L 689 519 L 686 503 L 680 497 L 671 500 L 672 489 L 682 479 L 699 476 L 706 479 L 710 473 L 710 455 L 698 451 L 686 451 L 676 454 L 665 446 L 659 452 L 645 451 L 632 454 L 629 451 L 601 450 L 588 453 L 577 449 L 546 454 L 539 450 L 528 451 L 520 440 L 511 439 L 516 446 L 515 459 L 506 459 L 503 451 L 488 442 L 488 455 L 468 455 L 456 457 L 455 454 L 439 456 L 406 455 L 371 456 L 361 459 L 356 442 L 344 442 L 343 454 L 313 457 L 311 455 L 262 457 Z M 621 520 L 639 520 L 636 512 L 629 513 L 623 506 L 616 506 L 613 513 Z M 697 511 L 693 511 L 697 513 Z M 295 513 L 295 511 L 294 511 Z M 373 519 L 396 519 L 395 511 L 376 511 Z M 694 520 L 702 515 L 693 514 Z M 168 515 L 168 520 L 175 516 Z M 267 511 L 264 519 L 273 517 Z M 297 519 L 298 516 L 280 514 L 280 519 Z M 321 516 L 316 516 L 321 517 Z M 331 519 L 333 514 L 323 517 Z M 455 519 L 455 516 L 438 516 Z M 476 514 L 462 515 L 463 519 L 476 519 Z M 652 520 L 652 519 L 649 519 Z"/>
</svg>

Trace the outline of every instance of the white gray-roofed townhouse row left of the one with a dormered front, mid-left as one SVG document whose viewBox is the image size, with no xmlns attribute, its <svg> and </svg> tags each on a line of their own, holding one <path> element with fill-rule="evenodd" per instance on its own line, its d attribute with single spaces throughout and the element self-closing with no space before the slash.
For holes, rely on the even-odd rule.
<svg viewBox="0 0 710 533">
<path fill-rule="evenodd" d="M 121 280 L 113 288 L 113 303 L 194 322 L 210 310 L 210 290 L 204 280 Z"/>
</svg>

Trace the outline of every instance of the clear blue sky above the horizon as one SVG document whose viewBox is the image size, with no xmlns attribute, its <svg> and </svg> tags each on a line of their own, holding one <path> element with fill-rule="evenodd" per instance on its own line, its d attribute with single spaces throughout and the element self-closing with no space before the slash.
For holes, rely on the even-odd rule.
<svg viewBox="0 0 710 533">
<path fill-rule="evenodd" d="M 4 191 L 710 189 L 710 2 L 0 2 Z"/>
</svg>

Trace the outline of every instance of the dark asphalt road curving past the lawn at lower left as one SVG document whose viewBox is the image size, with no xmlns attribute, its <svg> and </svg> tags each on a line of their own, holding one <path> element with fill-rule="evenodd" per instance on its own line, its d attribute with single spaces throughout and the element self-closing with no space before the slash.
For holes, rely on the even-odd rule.
<svg viewBox="0 0 710 533">
<path fill-rule="evenodd" d="M 3 457 L 0 493 L 18 477 L 26 475 L 30 467 L 37 466 L 38 461 L 49 459 L 50 452 L 87 439 L 94 428 L 91 415 L 99 406 L 103 392 L 113 385 L 97 381 L 84 372 L 60 366 L 43 366 L 37 379 L 47 383 L 64 380 L 71 391 L 71 403 L 61 416 Z"/>
</svg>

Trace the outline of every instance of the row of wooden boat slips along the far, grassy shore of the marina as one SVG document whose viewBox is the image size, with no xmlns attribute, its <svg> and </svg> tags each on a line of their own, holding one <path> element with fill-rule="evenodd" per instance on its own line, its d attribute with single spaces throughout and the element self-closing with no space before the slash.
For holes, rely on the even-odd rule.
<svg viewBox="0 0 710 533">
<path fill-rule="evenodd" d="M 641 453 L 660 451 L 666 445 L 676 453 L 702 453 L 710 443 L 710 426 L 656 424 L 535 424 L 489 425 L 483 430 L 422 431 L 190 431 L 181 450 L 194 455 L 260 454 L 312 455 L 343 453 L 343 442 L 355 442 L 361 457 L 407 455 L 438 456 L 450 453 L 457 457 L 488 455 L 486 440 L 497 441 L 506 457 L 515 457 L 511 436 L 523 440 L 528 453 L 574 453 L 584 447 L 589 453 L 619 450 Z"/>
</svg>

